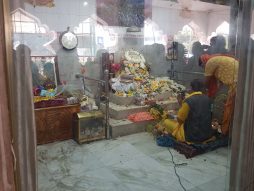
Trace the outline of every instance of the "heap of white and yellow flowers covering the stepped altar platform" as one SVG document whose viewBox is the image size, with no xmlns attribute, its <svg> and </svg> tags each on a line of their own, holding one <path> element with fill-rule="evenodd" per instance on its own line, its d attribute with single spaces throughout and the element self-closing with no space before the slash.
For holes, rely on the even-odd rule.
<svg viewBox="0 0 254 191">
<path fill-rule="evenodd" d="M 151 76 L 145 62 L 144 56 L 138 51 L 125 52 L 119 75 L 110 81 L 115 96 L 135 97 L 137 105 L 147 105 L 176 97 L 185 90 L 184 86 L 168 77 Z"/>
</svg>

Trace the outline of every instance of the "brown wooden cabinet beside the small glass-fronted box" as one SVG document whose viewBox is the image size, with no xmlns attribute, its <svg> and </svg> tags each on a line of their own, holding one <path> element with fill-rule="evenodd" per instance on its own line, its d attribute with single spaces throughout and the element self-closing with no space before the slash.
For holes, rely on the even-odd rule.
<svg viewBox="0 0 254 191">
<path fill-rule="evenodd" d="M 78 112 L 80 105 L 35 109 L 37 144 L 72 139 L 72 118 Z"/>
</svg>

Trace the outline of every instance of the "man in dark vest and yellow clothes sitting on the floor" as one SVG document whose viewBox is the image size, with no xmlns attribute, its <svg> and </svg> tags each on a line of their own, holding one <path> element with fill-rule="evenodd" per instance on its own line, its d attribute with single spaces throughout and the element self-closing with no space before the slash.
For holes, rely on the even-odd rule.
<svg viewBox="0 0 254 191">
<path fill-rule="evenodd" d="M 195 79 L 191 82 L 191 92 L 183 100 L 178 97 L 181 108 L 177 120 L 165 119 L 156 125 L 156 130 L 171 134 L 177 141 L 203 143 L 214 138 L 212 129 L 211 101 L 204 91 L 204 83 Z"/>
</svg>

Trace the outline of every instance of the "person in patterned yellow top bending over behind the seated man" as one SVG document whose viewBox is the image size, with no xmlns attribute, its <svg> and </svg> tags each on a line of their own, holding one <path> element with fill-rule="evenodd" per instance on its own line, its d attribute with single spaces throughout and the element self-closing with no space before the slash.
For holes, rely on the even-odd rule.
<svg viewBox="0 0 254 191">
<path fill-rule="evenodd" d="M 221 128 L 223 135 L 228 135 L 231 127 L 238 61 L 228 55 L 200 56 L 199 65 L 205 68 L 208 96 L 213 100 L 213 121 Z"/>
</svg>

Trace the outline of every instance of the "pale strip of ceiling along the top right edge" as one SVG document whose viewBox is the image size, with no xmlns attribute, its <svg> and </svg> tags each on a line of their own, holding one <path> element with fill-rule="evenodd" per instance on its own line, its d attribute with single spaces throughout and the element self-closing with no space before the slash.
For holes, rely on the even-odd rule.
<svg viewBox="0 0 254 191">
<path fill-rule="evenodd" d="M 230 9 L 230 6 L 206 3 L 199 0 L 177 0 L 177 2 L 175 0 L 153 0 L 153 6 L 201 12 L 228 11 Z"/>
</svg>

